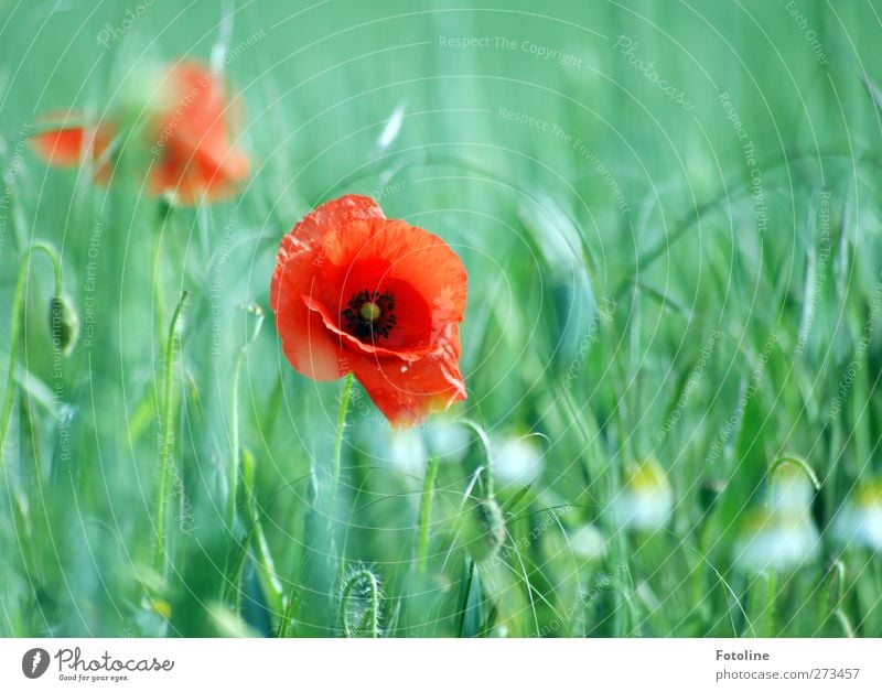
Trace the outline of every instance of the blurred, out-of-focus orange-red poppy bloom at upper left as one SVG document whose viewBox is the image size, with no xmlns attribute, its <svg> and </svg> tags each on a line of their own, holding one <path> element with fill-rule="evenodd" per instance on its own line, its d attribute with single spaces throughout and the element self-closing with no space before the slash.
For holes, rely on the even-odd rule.
<svg viewBox="0 0 882 692">
<path fill-rule="evenodd" d="M 172 67 L 162 78 L 149 106 L 148 126 L 138 130 L 133 144 L 142 158 L 153 158 L 149 169 L 152 194 L 173 193 L 182 204 L 194 204 L 235 194 L 248 175 L 246 155 L 229 143 L 238 112 L 227 105 L 223 84 L 198 63 Z M 64 118 L 76 120 L 76 116 Z M 108 149 L 125 134 L 115 121 L 97 126 L 75 125 L 36 134 L 34 150 L 55 165 L 76 165 L 82 159 L 99 162 L 96 179 L 109 179 Z"/>
</svg>

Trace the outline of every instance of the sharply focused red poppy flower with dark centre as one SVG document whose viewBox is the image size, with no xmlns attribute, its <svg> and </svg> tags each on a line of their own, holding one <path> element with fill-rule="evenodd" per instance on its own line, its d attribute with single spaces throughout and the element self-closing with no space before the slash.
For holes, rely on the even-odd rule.
<svg viewBox="0 0 882 692">
<path fill-rule="evenodd" d="M 396 428 L 465 399 L 466 273 L 432 234 L 346 195 L 282 238 L 270 304 L 288 360 L 315 380 L 354 372 Z"/>
</svg>

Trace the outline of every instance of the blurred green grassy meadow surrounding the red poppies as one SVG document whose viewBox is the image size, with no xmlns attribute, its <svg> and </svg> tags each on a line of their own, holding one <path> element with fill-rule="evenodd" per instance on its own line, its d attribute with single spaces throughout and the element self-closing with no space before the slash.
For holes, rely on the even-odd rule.
<svg viewBox="0 0 882 692">
<path fill-rule="evenodd" d="M 881 9 L 0 2 L 0 304 L 47 240 L 82 326 L 58 359 L 33 256 L 12 366 L 0 321 L 0 634 L 882 636 Z M 30 151 L 183 56 L 243 106 L 236 199 L 166 214 Z M 356 386 L 332 505 L 342 382 L 288 366 L 268 291 L 345 192 L 463 258 L 469 400 L 394 435 Z M 502 544 L 466 501 L 487 456 Z"/>
</svg>

